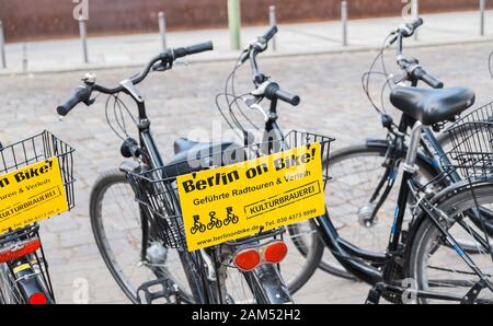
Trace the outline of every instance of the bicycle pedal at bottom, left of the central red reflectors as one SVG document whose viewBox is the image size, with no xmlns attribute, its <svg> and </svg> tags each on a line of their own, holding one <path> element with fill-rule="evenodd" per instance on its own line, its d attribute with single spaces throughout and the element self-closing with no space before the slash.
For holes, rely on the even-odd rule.
<svg viewBox="0 0 493 326">
<path fill-rule="evenodd" d="M 140 304 L 152 304 L 159 299 L 164 299 L 167 304 L 180 304 L 180 289 L 169 278 L 163 277 L 142 283 L 137 290 Z"/>
</svg>

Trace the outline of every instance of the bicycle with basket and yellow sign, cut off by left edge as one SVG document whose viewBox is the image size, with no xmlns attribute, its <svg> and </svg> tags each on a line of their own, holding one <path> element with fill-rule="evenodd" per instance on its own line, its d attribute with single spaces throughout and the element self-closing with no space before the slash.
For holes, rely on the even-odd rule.
<svg viewBox="0 0 493 326">
<path fill-rule="evenodd" d="M 3 189 L 8 186 L 14 187 L 14 182 L 9 182 L 11 178 L 7 177 L 8 175 L 19 175 L 25 168 L 35 168 L 34 166 L 37 166 L 36 164 L 44 165 L 48 160 L 56 159 L 56 161 L 51 162 L 57 162 L 59 165 L 61 185 L 55 186 L 57 190 L 51 198 L 59 197 L 60 200 L 65 200 L 66 208 L 70 210 L 74 207 L 73 152 L 74 150 L 70 145 L 48 131 L 7 147 L 0 144 L 0 188 Z M 34 174 L 33 177 L 35 177 Z M 43 194 L 51 190 L 39 188 L 45 193 L 36 193 L 33 195 L 31 191 L 30 196 L 33 196 L 25 199 L 22 197 L 22 194 L 30 189 L 26 188 L 25 184 L 20 184 L 19 179 L 16 184 L 16 188 L 10 195 L 8 194 L 5 197 L 2 197 L 0 303 L 54 304 L 56 300 L 37 221 L 56 216 L 62 211 L 51 209 L 46 211 L 46 208 L 44 208 L 42 216 L 39 216 L 39 211 L 31 211 L 28 213 L 31 216 L 30 218 L 20 218 L 21 213 L 27 216 L 26 212 L 28 210 L 26 209 L 30 206 L 36 205 L 39 207 L 39 205 L 49 202 L 49 197 L 44 197 Z M 28 185 L 33 186 L 32 183 L 28 183 Z M 58 188 L 60 186 L 64 189 Z M 5 194 L 3 193 L 3 195 Z M 33 203 L 33 200 L 36 203 Z M 22 219 L 22 221 L 19 219 Z M 9 225 L 5 223 L 9 223 Z"/>
</svg>

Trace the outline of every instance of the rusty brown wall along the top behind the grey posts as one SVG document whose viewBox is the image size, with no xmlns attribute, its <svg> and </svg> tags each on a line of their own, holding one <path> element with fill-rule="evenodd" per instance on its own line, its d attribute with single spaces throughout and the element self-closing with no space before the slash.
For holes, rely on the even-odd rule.
<svg viewBox="0 0 493 326">
<path fill-rule="evenodd" d="M 493 8 L 492 1 L 489 5 Z M 34 3 L 34 4 L 33 4 Z M 241 0 L 243 24 L 267 21 L 267 7 L 277 5 L 278 21 L 334 20 L 340 0 Z M 348 0 L 352 19 L 399 15 L 402 0 Z M 0 20 L 8 42 L 68 37 L 78 34 L 71 0 L 0 0 Z M 473 10 L 478 0 L 420 0 L 421 12 Z M 227 25 L 227 0 L 89 0 L 88 30 L 95 34 L 157 31 L 159 11 L 168 27 L 204 28 Z"/>
</svg>

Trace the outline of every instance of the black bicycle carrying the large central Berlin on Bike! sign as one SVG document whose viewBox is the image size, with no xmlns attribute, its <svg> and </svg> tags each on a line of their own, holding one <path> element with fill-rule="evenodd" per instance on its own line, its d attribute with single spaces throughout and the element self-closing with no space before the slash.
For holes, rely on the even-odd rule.
<svg viewBox="0 0 493 326">
<path fill-rule="evenodd" d="M 169 70 L 175 59 L 210 49 L 210 43 L 170 49 L 154 57 L 141 73 L 121 82 L 115 89 L 96 84 L 95 75 L 88 74 L 70 100 L 58 107 L 58 113 L 65 116 L 79 103 L 91 105 L 94 91 L 108 94 L 108 123 L 114 131 L 119 131 L 123 156 L 134 159 L 122 164 L 118 171 L 103 174 L 93 187 L 90 214 L 94 236 L 113 277 L 135 303 L 291 302 L 277 267 L 286 256 L 286 246 L 279 240 L 283 230 L 261 230 L 256 236 L 192 253 L 187 251 L 176 176 L 241 162 L 246 159 L 245 153 L 262 155 L 260 149 L 263 145 L 238 145 L 227 141 L 197 143 L 181 138 L 174 143 L 176 155 L 164 164 L 150 133 L 150 120 L 136 84 L 151 70 Z M 268 90 L 273 102 L 286 94 L 278 88 Z M 134 123 L 138 141 L 126 132 L 123 116 L 130 113 L 119 100 L 121 93 L 129 95 L 137 104 L 138 117 Z M 110 119 L 112 110 L 113 123 Z M 309 136 L 293 132 L 285 139 L 302 144 Z M 234 216 L 230 218 L 234 223 Z M 196 222 L 198 232 L 206 228 L 206 220 L 197 219 Z M 244 265 L 242 263 L 251 261 L 240 259 L 262 256 L 266 252 L 278 255 L 272 259 L 259 257 L 256 264 Z M 241 281 L 240 287 L 232 284 L 237 281 Z"/>
</svg>

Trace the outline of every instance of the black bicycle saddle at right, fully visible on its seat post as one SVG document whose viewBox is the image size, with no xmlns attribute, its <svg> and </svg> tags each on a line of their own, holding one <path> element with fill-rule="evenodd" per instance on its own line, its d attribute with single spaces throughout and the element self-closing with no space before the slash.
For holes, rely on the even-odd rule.
<svg viewBox="0 0 493 326">
<path fill-rule="evenodd" d="M 390 102 L 395 108 L 424 126 L 454 119 L 474 104 L 474 92 L 465 88 L 395 88 L 390 93 Z"/>
</svg>

